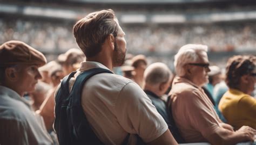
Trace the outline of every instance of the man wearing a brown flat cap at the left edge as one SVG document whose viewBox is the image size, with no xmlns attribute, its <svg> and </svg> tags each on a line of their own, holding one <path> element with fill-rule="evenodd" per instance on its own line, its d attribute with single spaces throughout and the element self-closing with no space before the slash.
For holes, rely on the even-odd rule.
<svg viewBox="0 0 256 145">
<path fill-rule="evenodd" d="M 40 118 L 23 98 L 42 78 L 38 67 L 45 63 L 44 55 L 24 42 L 0 46 L 0 144 L 52 144 Z"/>
</svg>

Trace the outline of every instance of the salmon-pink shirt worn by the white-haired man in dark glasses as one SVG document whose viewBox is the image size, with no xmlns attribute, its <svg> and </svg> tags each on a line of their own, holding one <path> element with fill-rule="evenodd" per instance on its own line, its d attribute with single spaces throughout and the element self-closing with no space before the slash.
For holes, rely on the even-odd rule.
<svg viewBox="0 0 256 145">
<path fill-rule="evenodd" d="M 170 92 L 174 121 L 186 142 L 207 142 L 221 123 L 203 89 L 186 78 L 174 78 Z"/>
</svg>

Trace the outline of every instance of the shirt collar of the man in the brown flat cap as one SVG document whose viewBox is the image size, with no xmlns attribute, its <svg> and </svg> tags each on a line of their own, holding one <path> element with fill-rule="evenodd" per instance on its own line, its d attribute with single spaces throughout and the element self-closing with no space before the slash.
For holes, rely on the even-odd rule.
<svg viewBox="0 0 256 145">
<path fill-rule="evenodd" d="M 4 96 L 8 96 L 8 97 L 10 97 L 12 99 L 18 100 L 20 102 L 23 102 L 26 106 L 31 108 L 31 105 L 28 102 L 28 100 L 26 100 L 23 97 L 19 96 L 17 92 L 15 92 L 14 90 L 12 90 L 10 88 L 7 88 L 5 86 L 0 85 L 0 94 L 4 95 Z"/>
</svg>

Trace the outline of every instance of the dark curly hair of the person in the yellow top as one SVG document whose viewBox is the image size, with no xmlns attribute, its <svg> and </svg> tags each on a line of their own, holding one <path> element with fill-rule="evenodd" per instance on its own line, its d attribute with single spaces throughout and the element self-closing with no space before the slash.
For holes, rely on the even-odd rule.
<svg viewBox="0 0 256 145">
<path fill-rule="evenodd" d="M 236 55 L 227 61 L 226 79 L 227 86 L 238 89 L 240 78 L 250 74 L 255 69 L 256 57 L 252 55 Z"/>
</svg>

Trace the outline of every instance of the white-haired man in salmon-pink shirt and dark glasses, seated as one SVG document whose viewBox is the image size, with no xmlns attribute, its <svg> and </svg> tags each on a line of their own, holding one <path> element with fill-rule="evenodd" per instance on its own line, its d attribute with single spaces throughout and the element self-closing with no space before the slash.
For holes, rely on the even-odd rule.
<svg viewBox="0 0 256 145">
<path fill-rule="evenodd" d="M 167 103 L 186 142 L 235 144 L 253 141 L 255 130 L 248 126 L 237 132 L 224 124 L 201 86 L 208 81 L 210 71 L 207 46 L 188 44 L 174 56 L 177 77 L 174 78 Z"/>
</svg>

